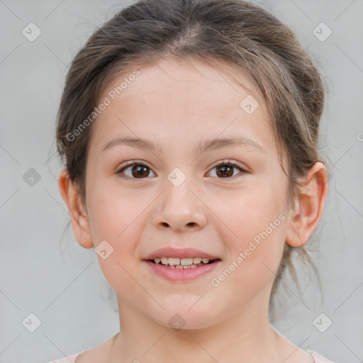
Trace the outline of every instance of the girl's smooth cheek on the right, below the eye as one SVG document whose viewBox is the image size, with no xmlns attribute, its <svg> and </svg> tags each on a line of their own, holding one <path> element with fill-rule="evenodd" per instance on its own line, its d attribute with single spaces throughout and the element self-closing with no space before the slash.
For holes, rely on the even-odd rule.
<svg viewBox="0 0 363 363">
<path fill-rule="evenodd" d="M 219 225 L 229 250 L 228 262 L 238 265 L 235 275 L 241 280 L 236 284 L 264 284 L 274 279 L 284 248 L 284 196 L 273 193 L 267 185 L 238 194 L 225 196 L 216 213 L 223 221 Z"/>
</svg>

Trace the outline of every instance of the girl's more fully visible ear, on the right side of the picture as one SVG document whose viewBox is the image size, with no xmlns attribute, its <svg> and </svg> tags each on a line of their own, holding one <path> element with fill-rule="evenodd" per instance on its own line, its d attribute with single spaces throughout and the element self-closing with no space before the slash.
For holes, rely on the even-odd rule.
<svg viewBox="0 0 363 363">
<path fill-rule="evenodd" d="M 285 241 L 292 247 L 308 242 L 323 214 L 328 194 L 328 171 L 322 162 L 315 162 L 306 177 L 293 208 Z"/>
</svg>

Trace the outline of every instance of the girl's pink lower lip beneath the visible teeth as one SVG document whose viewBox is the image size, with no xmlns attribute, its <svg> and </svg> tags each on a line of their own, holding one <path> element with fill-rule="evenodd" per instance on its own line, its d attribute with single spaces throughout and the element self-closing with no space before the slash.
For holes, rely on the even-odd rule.
<svg viewBox="0 0 363 363">
<path fill-rule="evenodd" d="M 194 280 L 197 277 L 208 274 L 208 272 L 213 271 L 216 267 L 219 266 L 220 259 L 217 259 L 215 262 L 211 264 L 206 264 L 204 266 L 195 267 L 194 269 L 172 269 L 171 267 L 163 266 L 162 264 L 155 264 L 154 262 L 143 260 L 150 267 L 152 272 L 158 274 L 165 279 L 170 281 L 190 281 Z"/>
</svg>

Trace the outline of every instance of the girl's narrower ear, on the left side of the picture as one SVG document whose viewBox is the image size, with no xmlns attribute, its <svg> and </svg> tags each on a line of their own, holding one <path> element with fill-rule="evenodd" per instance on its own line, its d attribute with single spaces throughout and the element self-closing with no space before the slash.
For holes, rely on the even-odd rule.
<svg viewBox="0 0 363 363">
<path fill-rule="evenodd" d="M 85 208 L 82 205 L 81 196 L 73 182 L 69 179 L 67 170 L 62 170 L 60 173 L 58 186 L 60 188 L 60 194 L 62 194 L 62 198 L 67 204 L 73 233 L 77 242 L 84 248 L 94 247 L 91 238 L 91 229 L 89 228 L 89 219 L 87 214 L 84 213 Z"/>
</svg>

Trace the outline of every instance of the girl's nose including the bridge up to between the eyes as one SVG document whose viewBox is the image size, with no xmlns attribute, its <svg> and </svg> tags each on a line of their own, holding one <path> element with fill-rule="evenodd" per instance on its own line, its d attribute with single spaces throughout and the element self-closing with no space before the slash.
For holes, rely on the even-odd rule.
<svg viewBox="0 0 363 363">
<path fill-rule="evenodd" d="M 158 228 L 183 230 L 205 225 L 205 211 L 201 201 L 194 195 L 196 188 L 192 177 L 181 174 L 181 170 L 176 168 L 164 180 L 163 189 L 165 191 L 153 218 Z"/>
</svg>

